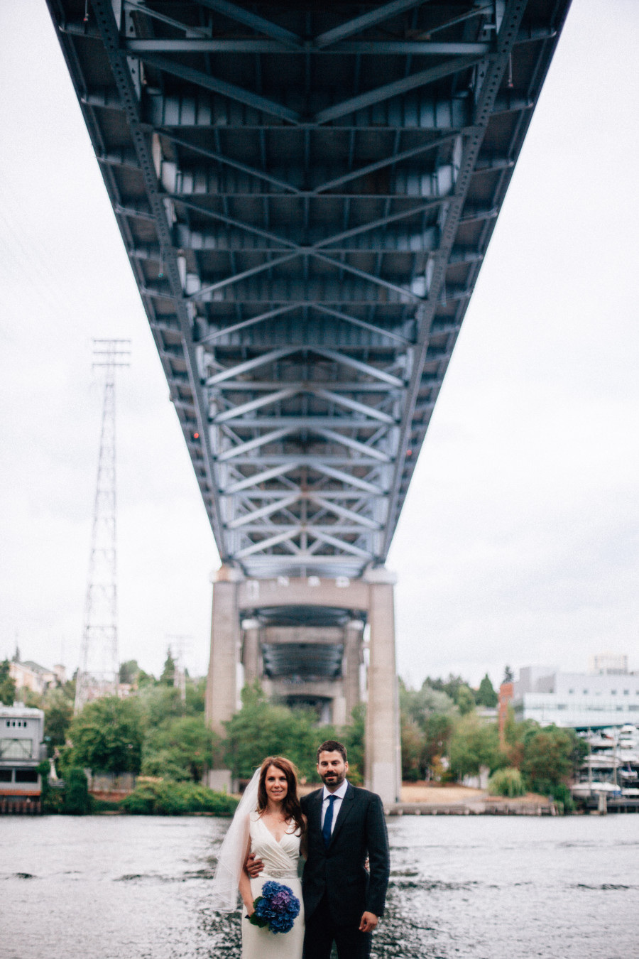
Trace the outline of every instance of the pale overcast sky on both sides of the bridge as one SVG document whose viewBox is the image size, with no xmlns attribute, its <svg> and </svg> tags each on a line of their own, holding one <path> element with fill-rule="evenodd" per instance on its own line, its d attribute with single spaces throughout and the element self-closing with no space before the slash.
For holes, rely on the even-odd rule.
<svg viewBox="0 0 639 959">
<path fill-rule="evenodd" d="M 639 668 L 639 3 L 574 0 L 388 565 L 399 672 Z M 0 4 L 0 656 L 79 662 L 118 379 L 121 659 L 208 664 L 217 550 L 43 0 Z"/>
</svg>

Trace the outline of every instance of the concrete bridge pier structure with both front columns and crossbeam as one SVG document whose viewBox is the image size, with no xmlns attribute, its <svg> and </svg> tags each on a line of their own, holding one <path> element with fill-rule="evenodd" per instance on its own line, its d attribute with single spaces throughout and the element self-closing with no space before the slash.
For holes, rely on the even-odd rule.
<svg viewBox="0 0 639 959">
<path fill-rule="evenodd" d="M 365 784 L 384 803 L 396 802 L 400 757 L 394 584 L 395 577 L 383 567 L 354 580 L 244 579 L 222 567 L 213 587 L 206 691 L 212 728 L 223 735 L 224 721 L 239 708 L 240 664 L 245 683 L 260 679 L 269 694 L 291 704 L 308 702 L 321 721 L 344 725 L 364 699 Z M 208 782 L 230 789 L 230 771 L 212 770 Z"/>
</svg>

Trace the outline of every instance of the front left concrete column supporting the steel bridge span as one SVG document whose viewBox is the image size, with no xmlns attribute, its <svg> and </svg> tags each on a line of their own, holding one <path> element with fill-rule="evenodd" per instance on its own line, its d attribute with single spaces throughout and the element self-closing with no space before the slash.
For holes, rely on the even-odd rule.
<svg viewBox="0 0 639 959">
<path fill-rule="evenodd" d="M 211 620 L 211 658 L 206 684 L 206 721 L 216 733 L 224 734 L 222 723 L 238 709 L 238 662 L 240 619 L 238 613 L 238 576 L 222 567 L 213 584 Z M 207 784 L 213 789 L 231 790 L 231 771 L 212 769 Z"/>
</svg>

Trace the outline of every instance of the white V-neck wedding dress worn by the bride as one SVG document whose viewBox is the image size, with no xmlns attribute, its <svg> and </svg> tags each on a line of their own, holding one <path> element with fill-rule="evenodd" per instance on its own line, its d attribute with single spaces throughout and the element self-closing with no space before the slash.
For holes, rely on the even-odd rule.
<svg viewBox="0 0 639 959">
<path fill-rule="evenodd" d="M 300 860 L 300 835 L 296 834 L 295 823 L 277 841 L 273 833 L 264 826 L 258 812 L 249 814 L 249 834 L 251 853 L 255 853 L 264 864 L 263 872 L 251 879 L 251 896 L 255 900 L 262 893 L 262 885 L 269 879 L 281 882 L 292 890 L 300 901 L 300 914 L 289 932 L 269 932 L 267 928 L 252 925 L 246 920 L 246 909 L 241 910 L 241 957 L 242 959 L 302 959 L 304 945 L 304 901 L 302 900 L 302 882 L 297 876 Z"/>
</svg>

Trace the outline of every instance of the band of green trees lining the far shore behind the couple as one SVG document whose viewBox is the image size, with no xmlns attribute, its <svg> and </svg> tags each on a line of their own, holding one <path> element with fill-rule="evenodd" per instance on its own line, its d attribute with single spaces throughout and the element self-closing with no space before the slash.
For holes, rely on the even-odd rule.
<svg viewBox="0 0 639 959">
<path fill-rule="evenodd" d="M 206 769 L 223 766 L 235 778 L 248 779 L 268 755 L 289 757 L 303 780 L 313 782 L 318 737 L 344 741 L 350 778 L 354 784 L 363 781 L 363 704 L 355 708 L 349 725 L 322 726 L 320 732 L 312 710 L 270 701 L 256 682 L 242 690 L 241 709 L 219 736 L 204 719 L 206 680 L 187 676 L 184 689 L 176 687 L 170 652 L 159 678 L 134 660 L 122 665 L 120 678 L 130 685 L 129 695 L 105 696 L 77 715 L 73 680 L 42 696 L 19 691 L 26 705 L 44 710 L 48 753 L 63 779 L 73 779 L 72 770 L 84 768 L 142 778 L 127 800 L 129 811 L 165 811 L 175 804 L 181 811 L 205 811 L 209 791 L 198 790 Z M 0 664 L 4 702 L 13 701 L 11 683 L 9 664 Z M 459 782 L 484 766 L 497 791 L 513 795 L 533 789 L 569 804 L 565 783 L 581 759 L 581 740 L 570 730 L 542 729 L 530 720 L 517 723 L 511 714 L 500 742 L 496 722 L 481 714 L 483 707 L 496 703 L 488 674 L 476 690 L 453 675 L 427 677 L 419 690 L 399 680 L 403 780 Z"/>
</svg>

